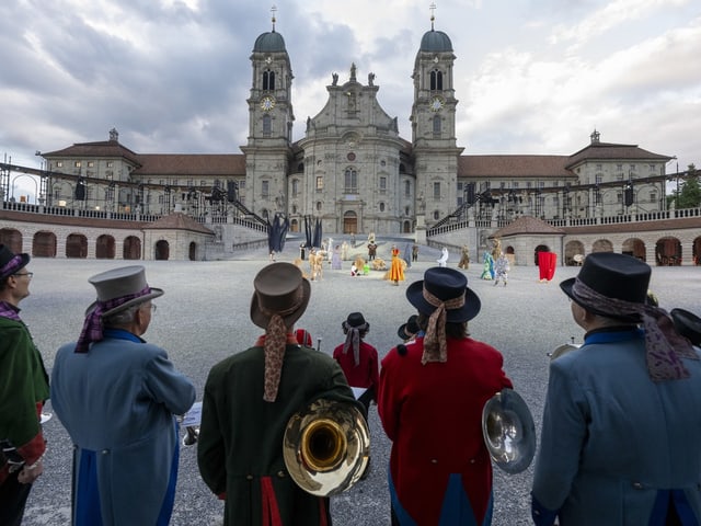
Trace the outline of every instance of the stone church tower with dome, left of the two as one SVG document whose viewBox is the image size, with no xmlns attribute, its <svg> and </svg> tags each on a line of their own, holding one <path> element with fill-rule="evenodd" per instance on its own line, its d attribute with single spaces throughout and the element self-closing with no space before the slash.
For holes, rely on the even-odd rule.
<svg viewBox="0 0 701 526">
<path fill-rule="evenodd" d="M 249 104 L 249 140 L 245 153 L 245 206 L 271 219 L 287 213 L 287 173 L 291 156 L 292 68 L 283 35 L 273 30 L 253 46 L 253 80 Z"/>
</svg>

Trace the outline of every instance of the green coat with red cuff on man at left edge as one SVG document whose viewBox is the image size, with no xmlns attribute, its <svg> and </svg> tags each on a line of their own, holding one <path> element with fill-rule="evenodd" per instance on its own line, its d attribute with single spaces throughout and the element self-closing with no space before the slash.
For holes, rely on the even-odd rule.
<svg viewBox="0 0 701 526">
<path fill-rule="evenodd" d="M 0 317 L 0 439 L 8 438 L 27 464 L 44 453 L 38 411 L 48 396 L 48 376 L 28 329 Z"/>
</svg>

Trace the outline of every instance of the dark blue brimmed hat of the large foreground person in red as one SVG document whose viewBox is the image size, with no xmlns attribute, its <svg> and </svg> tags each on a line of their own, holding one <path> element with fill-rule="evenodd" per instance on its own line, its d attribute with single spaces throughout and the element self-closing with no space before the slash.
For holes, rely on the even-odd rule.
<svg viewBox="0 0 701 526">
<path fill-rule="evenodd" d="M 446 309 L 446 321 L 460 323 L 478 316 L 482 306 L 480 298 L 468 288 L 468 278 L 463 273 L 447 266 L 434 266 L 424 273 L 424 279 L 406 287 L 406 299 L 422 315 L 430 316 L 437 307 L 426 300 L 424 290 L 440 301 L 448 301 L 464 296 L 462 307 Z"/>
</svg>

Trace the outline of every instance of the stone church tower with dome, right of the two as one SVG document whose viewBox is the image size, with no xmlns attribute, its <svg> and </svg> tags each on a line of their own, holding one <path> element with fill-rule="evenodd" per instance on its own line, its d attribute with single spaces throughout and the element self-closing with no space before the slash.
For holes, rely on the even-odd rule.
<svg viewBox="0 0 701 526">
<path fill-rule="evenodd" d="M 456 106 L 452 43 L 434 27 L 421 41 L 414 61 L 414 103 L 412 105 L 412 145 L 416 172 L 416 211 L 430 227 L 458 207 L 458 159 L 456 146 Z M 421 218 L 417 217 L 417 222 Z"/>
</svg>

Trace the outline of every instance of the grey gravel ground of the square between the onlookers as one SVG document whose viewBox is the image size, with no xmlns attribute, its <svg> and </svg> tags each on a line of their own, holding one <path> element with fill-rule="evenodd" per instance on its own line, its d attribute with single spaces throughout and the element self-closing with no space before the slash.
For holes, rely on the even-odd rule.
<svg viewBox="0 0 701 526">
<path fill-rule="evenodd" d="M 389 261 L 389 244 L 380 245 L 378 255 Z M 292 261 L 296 256 L 296 250 L 290 248 L 278 255 L 278 261 Z M 330 354 L 343 342 L 341 322 L 348 312 L 359 310 L 371 325 L 366 340 L 383 356 L 399 343 L 397 329 L 413 313 L 404 296 L 406 286 L 421 279 L 423 272 L 435 265 L 437 251 L 422 248 L 421 261 L 407 268 L 406 282 L 399 287 L 383 281 L 382 272 L 352 277 L 347 261 L 343 271 L 325 268 L 323 279 L 312 283 L 309 308 L 297 327 L 311 332 L 314 345 L 321 338 L 320 351 Z M 22 302 L 22 317 L 43 352 L 47 369 L 51 368 L 58 346 L 74 341 L 80 333 L 83 311 L 94 299 L 88 277 L 126 264 L 130 262 L 32 261 L 33 295 Z M 242 254 L 235 261 L 141 264 L 147 268 L 149 284 L 165 289 L 165 295 L 157 300 L 158 312 L 146 339 L 166 348 L 176 367 L 194 380 L 200 393 L 209 368 L 250 346 L 261 332 L 250 321 L 249 308 L 253 276 L 267 264 L 267 255 L 260 251 Z M 455 261 L 449 262 L 449 266 L 455 265 Z M 506 287 L 479 279 L 479 264 L 464 272 L 469 286 L 482 300 L 482 311 L 470 322 L 470 331 L 473 338 L 503 352 L 506 373 L 530 407 L 539 431 L 548 381 L 547 353 L 571 338 L 577 342 L 582 339 L 582 330 L 572 321 L 568 301 L 558 286 L 560 281 L 575 275 L 577 268 L 559 267 L 553 283 L 541 284 L 537 267 L 516 266 Z M 667 309 L 681 307 L 698 312 L 698 300 L 689 290 L 698 290 L 699 272 L 696 267 L 655 268 L 651 289 Z M 372 470 L 366 480 L 332 500 L 336 525 L 389 524 L 390 442 L 377 411 L 371 410 L 369 423 Z M 45 435 L 48 441 L 45 472 L 32 490 L 23 523 L 26 526 L 66 525 L 70 519 L 70 439 L 56 418 L 45 424 Z M 171 524 L 221 524 L 222 504 L 199 478 L 194 448 L 181 451 Z M 530 524 L 531 479 L 531 469 L 513 476 L 495 470 L 494 525 Z"/>
</svg>

